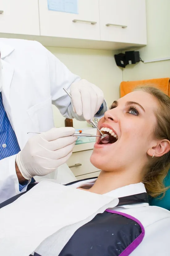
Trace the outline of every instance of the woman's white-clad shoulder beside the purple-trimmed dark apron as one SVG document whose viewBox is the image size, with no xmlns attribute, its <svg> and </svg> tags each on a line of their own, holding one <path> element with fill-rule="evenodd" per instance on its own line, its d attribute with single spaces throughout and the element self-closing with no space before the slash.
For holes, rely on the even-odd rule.
<svg viewBox="0 0 170 256">
<path fill-rule="evenodd" d="M 170 255 L 170 211 L 158 206 L 142 206 L 127 209 L 126 213 L 138 219 L 145 231 L 141 244 L 130 255 Z"/>
</svg>

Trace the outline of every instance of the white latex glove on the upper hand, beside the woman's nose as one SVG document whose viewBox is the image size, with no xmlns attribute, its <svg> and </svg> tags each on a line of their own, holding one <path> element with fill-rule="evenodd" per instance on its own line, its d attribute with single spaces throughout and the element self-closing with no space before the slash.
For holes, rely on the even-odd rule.
<svg viewBox="0 0 170 256">
<path fill-rule="evenodd" d="M 104 101 L 103 92 L 96 85 L 82 79 L 70 86 L 73 111 L 85 120 L 93 119 Z"/>
</svg>

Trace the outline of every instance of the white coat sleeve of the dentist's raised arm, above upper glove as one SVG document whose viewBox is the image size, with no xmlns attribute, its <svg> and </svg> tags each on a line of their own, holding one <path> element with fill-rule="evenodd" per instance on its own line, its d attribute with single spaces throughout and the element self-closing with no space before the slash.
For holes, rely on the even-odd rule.
<svg viewBox="0 0 170 256">
<path fill-rule="evenodd" d="M 64 117 L 85 121 L 83 116 L 78 116 L 74 113 L 71 105 L 71 99 L 63 90 L 63 87 L 65 87 L 68 91 L 70 91 L 70 85 L 75 81 L 79 81 L 80 77 L 71 73 L 71 71 L 47 49 L 45 49 L 45 53 L 47 56 L 53 105 L 58 108 Z M 96 117 L 100 118 L 104 115 L 104 112 L 107 110 L 105 101 L 103 102 L 103 106 L 103 110 Z"/>
</svg>

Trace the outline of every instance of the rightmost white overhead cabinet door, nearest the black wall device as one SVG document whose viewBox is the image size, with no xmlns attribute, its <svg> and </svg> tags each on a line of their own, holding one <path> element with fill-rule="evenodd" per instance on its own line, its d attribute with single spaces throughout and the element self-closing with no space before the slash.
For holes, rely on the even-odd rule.
<svg viewBox="0 0 170 256">
<path fill-rule="evenodd" d="M 145 0 L 99 0 L 101 40 L 147 43 Z"/>
</svg>

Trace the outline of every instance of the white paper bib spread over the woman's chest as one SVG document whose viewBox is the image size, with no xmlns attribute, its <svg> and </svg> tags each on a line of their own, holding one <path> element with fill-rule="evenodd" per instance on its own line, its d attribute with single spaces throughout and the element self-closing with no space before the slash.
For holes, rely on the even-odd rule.
<svg viewBox="0 0 170 256">
<path fill-rule="evenodd" d="M 118 198 L 41 181 L 0 209 L 0 255 L 29 256 L 55 232 L 58 255 L 79 227 L 118 202 Z"/>
</svg>

